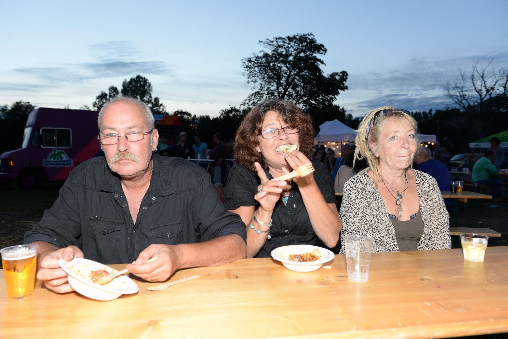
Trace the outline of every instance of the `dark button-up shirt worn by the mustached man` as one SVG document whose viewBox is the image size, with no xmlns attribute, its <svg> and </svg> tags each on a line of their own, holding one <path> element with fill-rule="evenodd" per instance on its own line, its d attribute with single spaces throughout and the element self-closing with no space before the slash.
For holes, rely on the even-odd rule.
<svg viewBox="0 0 508 339">
<path fill-rule="evenodd" d="M 117 264 L 136 260 L 152 243 L 195 243 L 228 234 L 246 239 L 245 225 L 220 202 L 202 167 L 156 154 L 152 159 L 136 223 L 119 176 L 97 157 L 71 171 L 53 206 L 26 232 L 25 243 L 76 245 L 87 259 Z"/>
</svg>

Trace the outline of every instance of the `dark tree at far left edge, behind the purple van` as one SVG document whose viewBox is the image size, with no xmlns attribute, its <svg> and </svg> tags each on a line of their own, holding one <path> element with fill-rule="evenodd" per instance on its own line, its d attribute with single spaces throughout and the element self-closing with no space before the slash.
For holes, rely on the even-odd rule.
<svg viewBox="0 0 508 339">
<path fill-rule="evenodd" d="M 0 153 L 21 147 L 23 129 L 28 114 L 35 106 L 26 101 L 17 101 L 12 106 L 0 107 Z"/>
</svg>

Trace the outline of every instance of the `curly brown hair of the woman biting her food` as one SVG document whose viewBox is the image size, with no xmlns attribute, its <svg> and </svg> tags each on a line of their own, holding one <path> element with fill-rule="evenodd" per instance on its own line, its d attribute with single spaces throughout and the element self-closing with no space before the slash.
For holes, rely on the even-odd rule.
<svg viewBox="0 0 508 339">
<path fill-rule="evenodd" d="M 270 99 L 258 104 L 243 118 L 235 136 L 235 160 L 240 165 L 256 171 L 255 162 L 266 167 L 261 152 L 256 150 L 260 144 L 259 134 L 263 125 L 263 119 L 268 111 L 280 114 L 282 119 L 292 128 L 297 128 L 299 133 L 300 151 L 306 157 L 312 154 L 314 145 L 314 132 L 312 119 L 309 114 L 303 112 L 298 106 L 282 99 Z"/>
</svg>

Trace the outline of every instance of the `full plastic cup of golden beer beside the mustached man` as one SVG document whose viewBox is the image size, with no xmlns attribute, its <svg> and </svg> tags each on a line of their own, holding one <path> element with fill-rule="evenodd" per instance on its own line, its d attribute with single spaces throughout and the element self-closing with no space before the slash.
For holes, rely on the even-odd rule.
<svg viewBox="0 0 508 339">
<path fill-rule="evenodd" d="M 8 298 L 34 293 L 38 245 L 17 245 L 0 250 Z"/>
</svg>

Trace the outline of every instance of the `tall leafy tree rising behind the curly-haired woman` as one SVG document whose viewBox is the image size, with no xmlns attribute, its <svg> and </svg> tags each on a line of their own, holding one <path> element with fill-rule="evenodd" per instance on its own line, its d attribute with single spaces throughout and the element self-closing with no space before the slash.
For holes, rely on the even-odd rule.
<svg viewBox="0 0 508 339">
<path fill-rule="evenodd" d="M 311 33 L 267 39 L 259 44 L 268 51 L 242 59 L 243 75 L 255 90 L 244 101 L 245 106 L 275 97 L 303 109 L 323 107 L 347 89 L 347 72 L 323 74 L 320 67 L 325 63 L 318 55 L 326 54 L 327 49 Z"/>
</svg>

